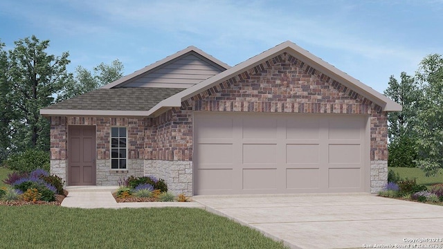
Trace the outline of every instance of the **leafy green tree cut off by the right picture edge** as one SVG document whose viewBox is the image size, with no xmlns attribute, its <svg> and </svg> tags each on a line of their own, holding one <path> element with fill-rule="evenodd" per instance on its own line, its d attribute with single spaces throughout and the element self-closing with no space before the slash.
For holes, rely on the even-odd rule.
<svg viewBox="0 0 443 249">
<path fill-rule="evenodd" d="M 417 113 L 417 165 L 433 175 L 443 167 L 443 56 L 424 57 L 416 75 L 423 93 Z"/>
</svg>

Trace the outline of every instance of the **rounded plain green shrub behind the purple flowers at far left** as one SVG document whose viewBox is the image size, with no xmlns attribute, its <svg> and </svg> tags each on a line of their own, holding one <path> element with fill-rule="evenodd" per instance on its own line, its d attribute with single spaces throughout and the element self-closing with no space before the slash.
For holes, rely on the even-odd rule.
<svg viewBox="0 0 443 249">
<path fill-rule="evenodd" d="M 5 162 L 9 169 L 18 172 L 32 172 L 34 169 L 45 169 L 49 172 L 50 160 L 47 151 L 28 149 L 19 154 L 11 155 Z"/>
</svg>

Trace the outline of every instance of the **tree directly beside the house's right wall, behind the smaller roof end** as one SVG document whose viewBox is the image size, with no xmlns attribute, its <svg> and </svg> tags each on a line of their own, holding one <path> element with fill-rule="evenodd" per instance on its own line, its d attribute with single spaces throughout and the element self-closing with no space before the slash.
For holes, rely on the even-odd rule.
<svg viewBox="0 0 443 249">
<path fill-rule="evenodd" d="M 390 76 L 388 89 L 384 92 L 389 98 L 401 104 L 402 111 L 388 113 L 388 145 L 390 167 L 416 167 L 417 146 L 414 125 L 419 99 L 418 84 L 410 75 L 402 72 L 398 82 Z"/>
</svg>

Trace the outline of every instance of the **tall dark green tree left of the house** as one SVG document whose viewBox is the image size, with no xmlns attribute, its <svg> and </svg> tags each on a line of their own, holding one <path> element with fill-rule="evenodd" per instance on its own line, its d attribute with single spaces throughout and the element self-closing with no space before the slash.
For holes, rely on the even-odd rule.
<svg viewBox="0 0 443 249">
<path fill-rule="evenodd" d="M 1 120 L 3 126 L 8 123 L 8 149 L 48 151 L 49 123 L 40 116 L 39 109 L 53 104 L 53 96 L 69 79 L 66 72 L 69 53 L 57 57 L 48 55 L 49 41 L 40 41 L 35 36 L 19 39 L 14 44 L 15 48 L 8 51 L 6 62 L 1 65 L 4 73 L 1 91 L 6 92 L 2 102 L 10 107 L 6 111 L 9 120 Z"/>
</svg>

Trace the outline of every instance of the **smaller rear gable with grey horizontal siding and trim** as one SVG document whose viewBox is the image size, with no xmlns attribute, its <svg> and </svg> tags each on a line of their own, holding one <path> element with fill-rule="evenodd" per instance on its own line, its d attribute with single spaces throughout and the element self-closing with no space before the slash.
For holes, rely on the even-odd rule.
<svg viewBox="0 0 443 249">
<path fill-rule="evenodd" d="M 119 87 L 183 88 L 202 82 L 230 68 L 195 46 L 189 46 L 150 66 L 116 80 L 103 89 Z"/>
</svg>

